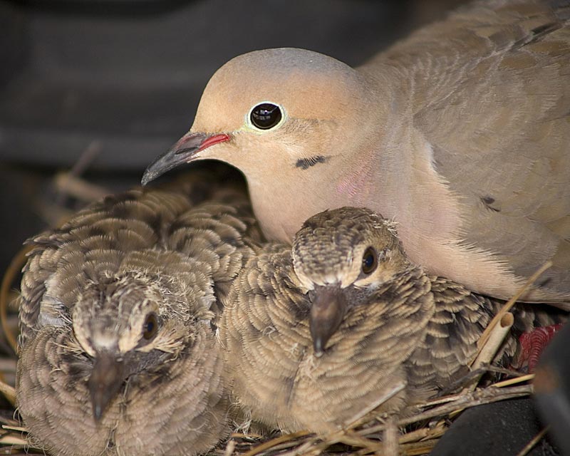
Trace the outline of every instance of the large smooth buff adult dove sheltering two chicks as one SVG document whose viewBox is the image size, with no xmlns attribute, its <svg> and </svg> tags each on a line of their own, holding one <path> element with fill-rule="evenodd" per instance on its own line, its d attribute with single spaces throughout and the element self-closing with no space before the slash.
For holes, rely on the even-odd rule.
<svg viewBox="0 0 570 456">
<path fill-rule="evenodd" d="M 142 182 L 238 167 L 269 239 L 324 209 L 398 222 L 410 259 L 509 299 L 570 308 L 570 3 L 478 1 L 351 68 L 297 48 L 234 58 Z"/>
</svg>

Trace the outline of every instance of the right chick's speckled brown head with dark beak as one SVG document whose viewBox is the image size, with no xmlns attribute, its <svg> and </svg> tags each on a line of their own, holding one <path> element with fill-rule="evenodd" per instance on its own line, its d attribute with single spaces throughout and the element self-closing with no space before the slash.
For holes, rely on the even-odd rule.
<svg viewBox="0 0 570 456">
<path fill-rule="evenodd" d="M 308 219 L 294 237 L 293 265 L 311 299 L 315 353 L 323 353 L 351 306 L 410 266 L 393 223 L 342 207 Z"/>
</svg>

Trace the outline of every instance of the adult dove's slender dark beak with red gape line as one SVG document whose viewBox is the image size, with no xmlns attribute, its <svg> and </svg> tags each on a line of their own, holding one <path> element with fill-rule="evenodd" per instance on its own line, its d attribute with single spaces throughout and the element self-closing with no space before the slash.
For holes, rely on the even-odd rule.
<svg viewBox="0 0 570 456">
<path fill-rule="evenodd" d="M 147 185 L 151 180 L 155 180 L 172 168 L 190 162 L 198 152 L 207 149 L 218 142 L 229 141 L 227 133 L 207 135 L 206 133 L 186 133 L 178 142 L 170 147 L 170 150 L 163 153 L 150 164 L 142 175 L 142 185 Z"/>
</svg>

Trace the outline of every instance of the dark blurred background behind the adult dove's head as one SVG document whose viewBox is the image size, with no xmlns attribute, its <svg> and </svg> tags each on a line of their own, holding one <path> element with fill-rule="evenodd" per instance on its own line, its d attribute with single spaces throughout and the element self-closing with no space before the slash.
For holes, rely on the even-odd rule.
<svg viewBox="0 0 570 456">
<path fill-rule="evenodd" d="M 137 185 L 230 58 L 292 46 L 358 65 L 457 3 L 0 1 L 0 271 L 87 198 L 61 195 L 57 172 L 103 192 Z"/>
</svg>

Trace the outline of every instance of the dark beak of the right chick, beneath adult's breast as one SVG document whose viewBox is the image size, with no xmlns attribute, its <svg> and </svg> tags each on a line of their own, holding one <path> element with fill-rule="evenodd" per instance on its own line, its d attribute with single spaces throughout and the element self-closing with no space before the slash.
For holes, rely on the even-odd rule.
<svg viewBox="0 0 570 456">
<path fill-rule="evenodd" d="M 323 355 L 328 339 L 341 326 L 346 307 L 346 296 L 340 288 L 323 286 L 315 290 L 309 328 L 316 357 Z"/>
</svg>

